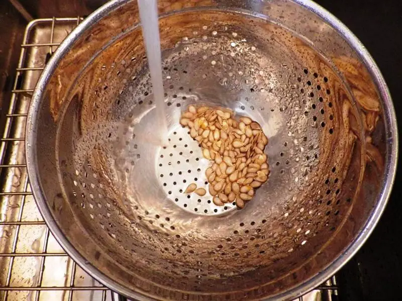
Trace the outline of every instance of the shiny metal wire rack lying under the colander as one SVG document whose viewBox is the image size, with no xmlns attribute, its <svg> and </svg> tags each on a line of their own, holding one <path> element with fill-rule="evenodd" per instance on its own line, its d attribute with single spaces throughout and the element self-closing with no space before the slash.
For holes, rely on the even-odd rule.
<svg viewBox="0 0 402 301">
<path fill-rule="evenodd" d="M 32 92 L 57 46 L 81 21 L 37 19 L 25 30 L 6 124 L 0 131 L 0 301 L 113 298 L 57 243 L 36 207 L 26 170 L 24 134 Z M 337 295 L 333 276 L 298 301 L 331 301 Z"/>
</svg>

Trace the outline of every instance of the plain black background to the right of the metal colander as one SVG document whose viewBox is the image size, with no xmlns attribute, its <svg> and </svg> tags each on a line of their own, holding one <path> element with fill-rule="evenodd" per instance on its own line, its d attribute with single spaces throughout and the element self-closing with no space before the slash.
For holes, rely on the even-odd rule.
<svg viewBox="0 0 402 301">
<path fill-rule="evenodd" d="M 402 2 L 317 0 L 364 44 L 388 84 L 396 117 L 402 121 Z M 402 124 L 399 124 L 399 129 Z M 401 136 L 399 130 L 399 136 Z M 374 232 L 338 273 L 340 300 L 402 300 L 401 169 Z"/>
</svg>

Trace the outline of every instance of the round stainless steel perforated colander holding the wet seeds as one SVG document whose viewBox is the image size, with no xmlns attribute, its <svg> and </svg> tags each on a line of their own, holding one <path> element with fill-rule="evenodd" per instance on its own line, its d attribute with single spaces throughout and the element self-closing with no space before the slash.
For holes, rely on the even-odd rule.
<svg viewBox="0 0 402 301">
<path fill-rule="evenodd" d="M 27 125 L 31 186 L 86 271 L 138 300 L 289 299 L 338 270 L 392 185 L 396 121 L 357 39 L 309 1 L 159 1 L 168 145 L 158 145 L 136 2 L 112 1 L 59 47 Z M 189 104 L 250 116 L 268 181 L 244 209 L 183 194 L 210 164 Z"/>
</svg>

